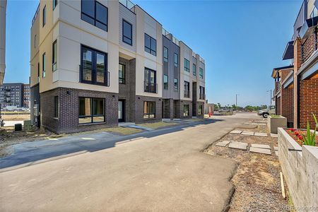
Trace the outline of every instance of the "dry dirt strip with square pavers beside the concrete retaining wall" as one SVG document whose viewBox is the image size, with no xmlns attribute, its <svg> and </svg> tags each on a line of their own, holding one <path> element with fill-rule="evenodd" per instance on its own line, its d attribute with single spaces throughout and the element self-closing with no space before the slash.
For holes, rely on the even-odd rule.
<svg viewBox="0 0 318 212">
<path fill-rule="evenodd" d="M 251 143 L 269 144 L 272 155 L 219 147 L 216 143 L 206 149 L 208 154 L 231 158 L 238 163 L 237 173 L 232 177 L 235 193 L 229 211 L 290 211 L 288 197 L 283 199 L 281 194 L 281 167 L 273 150 L 273 146 L 278 146 L 277 138 L 227 134 L 220 139 L 232 140 L 249 143 L 249 146 Z M 285 191 L 288 196 L 286 184 Z"/>
</svg>

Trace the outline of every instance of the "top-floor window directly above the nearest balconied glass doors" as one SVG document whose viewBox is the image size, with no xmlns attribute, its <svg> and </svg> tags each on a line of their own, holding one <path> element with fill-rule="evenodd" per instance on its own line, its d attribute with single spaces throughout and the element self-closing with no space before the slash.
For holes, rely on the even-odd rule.
<svg viewBox="0 0 318 212">
<path fill-rule="evenodd" d="M 107 7 L 103 6 L 98 1 L 82 0 L 82 20 L 107 31 L 107 16 Z"/>
</svg>

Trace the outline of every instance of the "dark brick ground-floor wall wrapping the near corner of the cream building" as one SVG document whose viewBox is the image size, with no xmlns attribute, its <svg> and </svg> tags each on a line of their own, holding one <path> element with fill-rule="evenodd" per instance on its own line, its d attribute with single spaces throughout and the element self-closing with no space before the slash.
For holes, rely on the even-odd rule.
<svg viewBox="0 0 318 212">
<path fill-rule="evenodd" d="M 59 97 L 59 118 L 54 118 L 54 96 Z M 105 99 L 105 123 L 78 124 L 79 97 Z M 118 95 L 94 90 L 56 88 L 40 94 L 42 126 L 56 133 L 72 133 L 118 126 Z"/>
</svg>

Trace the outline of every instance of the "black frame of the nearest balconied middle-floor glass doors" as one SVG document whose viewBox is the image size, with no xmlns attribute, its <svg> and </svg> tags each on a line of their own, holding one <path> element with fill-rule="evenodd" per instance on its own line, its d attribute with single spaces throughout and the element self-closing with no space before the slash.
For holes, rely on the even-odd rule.
<svg viewBox="0 0 318 212">
<path fill-rule="evenodd" d="M 88 49 L 92 52 L 92 72 L 91 72 L 91 81 L 83 80 L 83 49 Z M 104 54 L 104 83 L 100 83 L 97 81 L 97 69 L 96 69 L 96 54 Z M 86 45 L 81 45 L 81 71 L 80 71 L 80 83 L 86 83 L 90 85 L 96 85 L 96 86 L 109 86 L 108 80 L 109 80 L 109 74 L 108 74 L 108 54 L 106 52 L 102 52 L 98 49 L 94 49 L 92 47 L 88 47 Z"/>
</svg>

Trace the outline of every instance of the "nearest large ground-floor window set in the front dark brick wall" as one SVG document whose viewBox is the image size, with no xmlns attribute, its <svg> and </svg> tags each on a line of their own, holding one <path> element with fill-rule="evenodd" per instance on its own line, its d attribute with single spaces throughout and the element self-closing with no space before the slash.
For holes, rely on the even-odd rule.
<svg viewBox="0 0 318 212">
<path fill-rule="evenodd" d="M 101 98 L 79 98 L 78 123 L 105 122 L 105 100 Z"/>
</svg>

